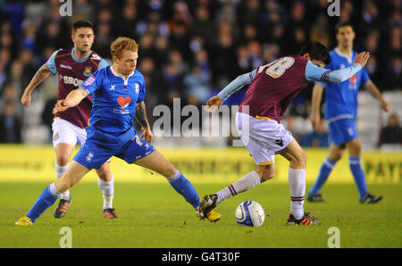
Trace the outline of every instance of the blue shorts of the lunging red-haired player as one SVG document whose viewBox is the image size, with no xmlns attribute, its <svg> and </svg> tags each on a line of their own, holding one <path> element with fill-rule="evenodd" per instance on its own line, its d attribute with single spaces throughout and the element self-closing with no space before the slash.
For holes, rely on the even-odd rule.
<svg viewBox="0 0 402 266">
<path fill-rule="evenodd" d="M 112 156 L 131 163 L 152 154 L 154 151 L 154 146 L 147 143 L 138 134 L 124 145 L 101 145 L 88 138 L 72 160 L 89 169 L 100 169 Z"/>
</svg>

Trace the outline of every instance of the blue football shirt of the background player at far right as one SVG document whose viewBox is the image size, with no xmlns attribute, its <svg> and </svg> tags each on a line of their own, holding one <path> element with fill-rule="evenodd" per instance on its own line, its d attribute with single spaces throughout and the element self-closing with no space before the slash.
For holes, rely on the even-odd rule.
<svg viewBox="0 0 402 266">
<path fill-rule="evenodd" d="M 331 50 L 331 62 L 325 66 L 329 70 L 348 68 L 353 64 L 356 52 L 352 56 L 341 53 L 337 48 Z M 322 82 L 325 87 L 325 119 L 329 122 L 340 119 L 356 119 L 357 93 L 361 84 L 370 80 L 365 67 L 350 79 L 341 83 Z"/>
</svg>

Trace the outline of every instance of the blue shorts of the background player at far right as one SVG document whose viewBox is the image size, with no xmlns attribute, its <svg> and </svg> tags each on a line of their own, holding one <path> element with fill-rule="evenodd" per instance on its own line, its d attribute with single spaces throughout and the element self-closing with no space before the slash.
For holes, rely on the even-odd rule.
<svg viewBox="0 0 402 266">
<path fill-rule="evenodd" d="M 347 143 L 357 137 L 356 120 L 342 119 L 328 124 L 330 140 L 334 145 Z"/>
</svg>

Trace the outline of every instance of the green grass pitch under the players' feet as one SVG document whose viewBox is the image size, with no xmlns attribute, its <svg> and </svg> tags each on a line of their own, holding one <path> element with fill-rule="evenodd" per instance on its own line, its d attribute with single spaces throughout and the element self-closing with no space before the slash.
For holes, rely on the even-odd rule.
<svg viewBox="0 0 402 266">
<path fill-rule="evenodd" d="M 72 204 L 63 219 L 53 218 L 54 206 L 33 227 L 14 222 L 29 211 L 47 183 L 0 184 L 0 247 L 60 247 L 63 227 L 71 228 L 72 247 L 257 248 L 328 247 L 328 229 L 339 228 L 340 247 L 402 247 L 402 185 L 371 185 L 383 195 L 380 204 L 357 200 L 355 185 L 328 184 L 322 204 L 306 202 L 305 209 L 322 220 L 321 226 L 286 225 L 287 184 L 263 184 L 223 202 L 216 209 L 222 220 L 197 220 L 194 210 L 166 184 L 115 182 L 117 220 L 105 220 L 102 195 L 95 182 L 71 189 Z M 200 196 L 229 184 L 194 183 Z M 306 191 L 311 185 L 307 185 Z M 238 204 L 255 200 L 264 207 L 261 228 L 240 227 L 234 219 Z"/>
</svg>

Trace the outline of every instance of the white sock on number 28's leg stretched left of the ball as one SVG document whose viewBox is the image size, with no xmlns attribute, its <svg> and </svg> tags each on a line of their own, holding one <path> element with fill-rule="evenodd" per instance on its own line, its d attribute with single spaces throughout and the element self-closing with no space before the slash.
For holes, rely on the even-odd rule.
<svg viewBox="0 0 402 266">
<path fill-rule="evenodd" d="M 222 203 L 225 199 L 228 199 L 234 195 L 238 195 L 239 193 L 245 192 L 257 185 L 260 185 L 261 179 L 260 176 L 256 173 L 256 171 L 252 171 L 247 173 L 243 178 L 237 180 L 229 187 L 223 188 L 221 191 L 218 191 L 216 195 L 218 195 L 218 199 L 216 204 Z"/>
</svg>

